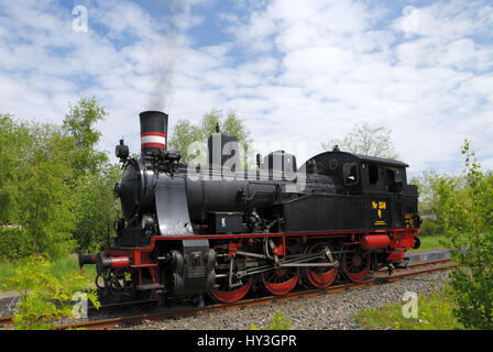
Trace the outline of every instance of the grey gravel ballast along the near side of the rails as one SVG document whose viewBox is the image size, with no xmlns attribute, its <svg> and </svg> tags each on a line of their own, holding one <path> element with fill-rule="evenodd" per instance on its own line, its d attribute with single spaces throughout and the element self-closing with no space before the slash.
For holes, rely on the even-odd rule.
<svg viewBox="0 0 493 352">
<path fill-rule="evenodd" d="M 145 321 L 142 324 L 123 326 L 116 329 L 248 330 L 252 324 L 263 329 L 278 309 L 289 318 L 291 329 L 293 330 L 358 330 L 361 329 L 361 326 L 352 321 L 351 317 L 360 309 L 377 308 L 390 302 L 398 302 L 406 292 L 418 295 L 431 294 L 434 289 L 440 289 L 447 275 L 446 272 L 424 274 L 413 278 L 339 293 L 327 293 L 316 297 L 212 311 L 179 319 Z"/>
</svg>

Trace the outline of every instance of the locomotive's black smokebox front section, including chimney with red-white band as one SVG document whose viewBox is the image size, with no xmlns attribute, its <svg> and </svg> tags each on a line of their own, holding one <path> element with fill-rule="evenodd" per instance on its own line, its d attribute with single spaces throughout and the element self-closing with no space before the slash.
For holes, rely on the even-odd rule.
<svg viewBox="0 0 493 352">
<path fill-rule="evenodd" d="M 180 155 L 166 148 L 167 121 L 160 111 L 140 114 L 140 158 L 129 158 L 123 141 L 117 146 L 123 163 L 121 182 L 114 186 L 123 212 L 116 227 L 121 245 L 143 244 L 152 235 L 193 233 L 184 194 L 186 174 L 177 169 Z"/>
</svg>

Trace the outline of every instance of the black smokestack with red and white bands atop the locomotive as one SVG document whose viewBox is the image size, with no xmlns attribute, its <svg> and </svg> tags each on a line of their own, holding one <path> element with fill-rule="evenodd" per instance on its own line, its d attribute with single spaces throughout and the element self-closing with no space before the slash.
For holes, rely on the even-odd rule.
<svg viewBox="0 0 493 352">
<path fill-rule="evenodd" d="M 141 118 L 142 155 L 153 148 L 166 148 L 167 114 L 161 111 L 143 111 Z"/>
</svg>

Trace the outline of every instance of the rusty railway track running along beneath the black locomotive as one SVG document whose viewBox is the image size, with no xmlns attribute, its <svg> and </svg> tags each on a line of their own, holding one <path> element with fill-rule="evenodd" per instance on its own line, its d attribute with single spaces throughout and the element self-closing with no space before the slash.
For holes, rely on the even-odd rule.
<svg viewBox="0 0 493 352">
<path fill-rule="evenodd" d="M 434 265 L 441 265 L 436 267 L 428 267 Z M 385 270 L 382 270 L 374 274 L 374 277 L 368 278 L 361 283 L 349 283 L 349 284 L 340 284 L 340 285 L 332 285 L 329 286 L 326 289 L 307 289 L 307 290 L 299 290 L 299 292 L 293 292 L 285 296 L 264 296 L 259 298 L 251 298 L 251 299 L 243 299 L 238 302 L 232 304 L 213 304 L 208 305 L 205 307 L 195 307 L 195 308 L 169 308 L 166 310 L 161 310 L 156 312 L 150 312 L 150 314 L 140 314 L 134 316 L 127 316 L 127 317 L 117 317 L 117 318 L 110 318 L 110 319 L 95 319 L 95 320 L 81 320 L 73 324 L 64 324 L 59 326 L 58 329 L 74 329 L 74 328 L 85 328 L 88 330 L 102 330 L 102 329 L 110 329 L 114 328 L 119 324 L 128 324 L 128 323 L 142 323 L 145 320 L 157 320 L 157 319 L 165 319 L 165 318 L 180 318 L 180 317 L 188 317 L 188 316 L 195 316 L 195 315 L 201 315 L 210 311 L 217 311 L 217 310 L 226 310 L 226 309 L 235 309 L 240 307 L 248 307 L 248 306 L 259 306 L 259 305 L 265 305 L 269 302 L 274 301 L 283 301 L 283 300 L 291 300 L 291 299 L 298 299 L 298 298 L 305 298 L 305 297 L 311 297 L 311 296 L 319 296 L 327 293 L 335 293 L 335 292 L 341 292 L 346 289 L 355 289 L 355 288 L 362 288 L 369 285 L 375 285 L 375 284 L 383 284 L 388 282 L 394 282 L 398 279 L 404 279 L 417 275 L 424 275 L 424 274 L 430 274 L 440 272 L 443 270 L 448 270 L 452 266 L 456 266 L 456 264 L 451 263 L 450 260 L 438 260 L 438 261 L 431 261 L 431 262 L 424 262 L 424 263 L 417 263 L 417 264 L 410 264 L 405 270 L 396 270 L 397 273 L 394 273 L 392 276 L 382 276 L 384 274 Z M 408 270 L 419 268 L 418 271 L 412 271 L 407 272 Z M 381 275 L 381 276 L 379 276 Z M 12 324 L 11 317 L 0 318 L 0 327 L 1 326 L 9 326 Z"/>
</svg>

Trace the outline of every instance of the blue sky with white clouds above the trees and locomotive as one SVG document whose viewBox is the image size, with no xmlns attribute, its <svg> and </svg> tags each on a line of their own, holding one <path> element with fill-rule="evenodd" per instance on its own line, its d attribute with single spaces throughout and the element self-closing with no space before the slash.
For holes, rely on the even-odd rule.
<svg viewBox="0 0 493 352">
<path fill-rule="evenodd" d="M 87 10 L 87 32 L 74 31 Z M 139 150 L 140 111 L 235 111 L 300 162 L 363 121 L 417 174 L 493 168 L 493 2 L 0 0 L 0 112 L 59 123 L 96 96 L 100 148 Z M 299 163 L 299 162 L 298 162 Z"/>
</svg>

